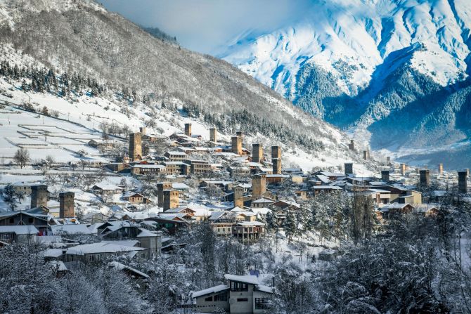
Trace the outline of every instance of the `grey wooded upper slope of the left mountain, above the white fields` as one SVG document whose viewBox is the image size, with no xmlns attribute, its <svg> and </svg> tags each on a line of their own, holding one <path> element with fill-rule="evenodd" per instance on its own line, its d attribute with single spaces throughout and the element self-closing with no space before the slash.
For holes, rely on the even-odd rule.
<svg viewBox="0 0 471 314">
<path fill-rule="evenodd" d="M 181 122 L 187 119 L 181 115 L 183 108 L 196 108 L 198 119 L 218 123 L 221 131 L 243 128 L 247 140 L 282 142 L 294 155 L 298 151 L 314 164 L 337 167 L 351 159 L 374 165 L 349 152 L 344 133 L 293 106 L 233 65 L 155 39 L 93 1 L 18 4 L 6 0 L 0 3 L 0 10 L 2 60 L 20 68 L 25 62 L 38 63 L 46 67 L 45 73 L 51 68 L 61 75 L 73 72 L 93 77 L 105 86 L 100 97 L 121 103 L 117 110 L 141 110 L 148 119 L 170 110 L 170 119 Z M 14 89 L 21 89 L 21 81 L 12 83 Z M 53 96 L 62 97 L 61 93 L 54 90 Z M 93 91 L 87 93 L 93 95 Z M 67 95 L 72 103 L 85 101 L 72 88 Z M 132 128 L 137 126 L 133 122 Z"/>
</svg>

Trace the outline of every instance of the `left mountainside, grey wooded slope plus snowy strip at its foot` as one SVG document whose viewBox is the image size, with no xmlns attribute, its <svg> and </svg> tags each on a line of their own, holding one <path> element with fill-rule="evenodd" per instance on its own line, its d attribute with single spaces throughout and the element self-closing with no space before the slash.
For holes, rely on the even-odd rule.
<svg viewBox="0 0 471 314">
<path fill-rule="evenodd" d="M 92 128 L 115 122 L 168 135 L 190 119 L 204 136 L 217 126 L 223 136 L 244 131 L 247 145 L 283 143 L 291 164 L 306 170 L 354 160 L 365 174 L 375 165 L 348 150 L 344 133 L 233 65 L 156 38 L 91 0 L 1 0 L 0 42 L 1 67 L 8 72 L 0 78 L 1 94 L 85 119 L 86 127 L 91 116 Z M 37 88 L 38 80 L 56 75 L 67 77 L 68 85 Z M 90 89 L 94 81 L 102 91 Z"/>
</svg>

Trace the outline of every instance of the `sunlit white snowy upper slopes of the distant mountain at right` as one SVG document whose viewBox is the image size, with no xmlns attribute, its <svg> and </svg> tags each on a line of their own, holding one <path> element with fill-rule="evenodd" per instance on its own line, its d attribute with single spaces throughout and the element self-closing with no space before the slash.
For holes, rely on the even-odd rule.
<svg viewBox="0 0 471 314">
<path fill-rule="evenodd" d="M 420 43 L 426 51 L 412 64 L 445 86 L 463 79 L 470 53 L 471 3 L 446 1 L 315 1 L 291 27 L 231 46 L 225 60 L 295 100 L 295 81 L 304 63 L 337 77 L 356 95 L 387 56 Z"/>
</svg>

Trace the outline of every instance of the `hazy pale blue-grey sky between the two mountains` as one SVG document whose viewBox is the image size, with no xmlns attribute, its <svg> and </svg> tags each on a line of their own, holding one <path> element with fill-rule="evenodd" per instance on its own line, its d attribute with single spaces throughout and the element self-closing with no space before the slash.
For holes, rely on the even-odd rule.
<svg viewBox="0 0 471 314">
<path fill-rule="evenodd" d="M 241 34 L 287 25 L 312 0 L 98 0 L 109 11 L 159 27 L 182 46 L 217 55 Z"/>
</svg>

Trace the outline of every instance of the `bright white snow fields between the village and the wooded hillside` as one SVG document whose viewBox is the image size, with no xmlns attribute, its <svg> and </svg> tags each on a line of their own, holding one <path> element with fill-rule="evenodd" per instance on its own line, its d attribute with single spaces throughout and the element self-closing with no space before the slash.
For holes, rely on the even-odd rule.
<svg viewBox="0 0 471 314">
<path fill-rule="evenodd" d="M 138 128 L 145 126 L 145 122 L 151 118 L 150 110 L 145 105 L 137 107 L 123 107 L 119 103 L 113 103 L 104 98 L 90 98 L 81 96 L 74 103 L 70 103 L 63 98 L 55 97 L 51 94 L 25 93 L 18 86 L 12 86 L 4 79 L 0 79 L 0 89 L 8 90 L 13 98 L 0 95 L 0 100 L 7 100 L 18 105 L 30 101 L 39 112 L 44 106 L 49 111 L 55 110 L 59 113 L 60 119 L 46 117 L 37 113 L 25 112 L 7 106 L 0 110 L 0 150 L 1 156 L 9 162 L 18 148 L 25 147 L 30 151 L 33 160 L 44 159 L 47 155 L 53 155 L 57 162 L 77 162 L 83 159 L 76 152 L 84 150 L 87 152 L 86 158 L 93 161 L 106 162 L 100 156 L 98 150 L 91 148 L 86 143 L 91 139 L 100 139 L 101 122 L 108 124 L 115 123 L 118 126 L 128 126 L 131 131 L 138 131 Z M 178 105 L 178 103 L 176 104 Z M 75 122 L 76 124 L 72 124 Z M 165 136 L 172 133 L 181 132 L 186 122 L 191 122 L 193 134 L 200 134 L 203 140 L 209 140 L 209 128 L 211 126 L 200 122 L 198 119 L 183 117 L 177 112 L 169 110 L 157 111 L 156 128 L 147 128 L 148 133 L 160 133 Z M 77 125 L 79 124 L 79 125 Z M 337 143 L 342 143 L 342 133 L 337 129 L 330 130 L 331 136 Z M 46 136 L 47 135 L 47 136 Z M 219 134 L 221 140 L 230 141 L 231 134 Z M 119 140 L 119 139 L 115 139 Z M 257 136 L 245 136 L 245 145 L 249 146 L 253 142 L 270 145 L 280 145 L 271 138 Z M 324 139 L 325 150 L 321 152 L 306 152 L 300 149 L 283 146 L 283 166 L 299 166 L 304 171 L 310 171 L 313 167 L 334 167 L 339 168 L 344 162 L 355 159 L 354 155 L 345 155 L 338 150 L 335 144 Z M 362 176 L 372 174 L 367 166 L 356 163 L 355 171 Z"/>
</svg>

